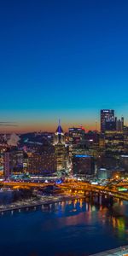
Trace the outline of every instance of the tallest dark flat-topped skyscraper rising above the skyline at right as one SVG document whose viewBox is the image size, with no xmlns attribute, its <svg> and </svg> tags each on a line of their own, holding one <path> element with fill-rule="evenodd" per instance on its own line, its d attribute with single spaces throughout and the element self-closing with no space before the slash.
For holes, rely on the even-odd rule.
<svg viewBox="0 0 128 256">
<path fill-rule="evenodd" d="M 114 117 L 113 109 L 102 109 L 101 110 L 101 132 L 115 131 L 116 122 Z"/>
</svg>

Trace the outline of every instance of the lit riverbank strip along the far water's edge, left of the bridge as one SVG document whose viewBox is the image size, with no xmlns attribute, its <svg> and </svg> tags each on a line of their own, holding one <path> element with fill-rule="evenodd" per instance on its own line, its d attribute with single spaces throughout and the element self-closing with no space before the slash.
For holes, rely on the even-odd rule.
<svg viewBox="0 0 128 256">
<path fill-rule="evenodd" d="M 15 211 L 15 210 L 21 210 L 21 209 L 29 209 L 34 207 L 34 209 L 36 209 L 36 207 L 39 206 L 47 206 L 50 204 L 54 204 L 54 203 L 59 203 L 62 201 L 74 201 L 74 200 L 79 200 L 79 199 L 83 199 L 84 200 L 84 196 L 79 196 L 79 195 L 67 195 L 67 196 L 44 196 L 41 197 L 38 201 L 17 201 L 15 203 L 11 203 L 9 205 L 3 205 L 0 206 L 0 212 L 9 212 L 9 211 Z"/>
</svg>

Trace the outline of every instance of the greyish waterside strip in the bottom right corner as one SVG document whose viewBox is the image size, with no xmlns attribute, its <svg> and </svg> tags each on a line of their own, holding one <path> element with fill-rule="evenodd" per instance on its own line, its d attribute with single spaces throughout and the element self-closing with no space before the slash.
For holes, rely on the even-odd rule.
<svg viewBox="0 0 128 256">
<path fill-rule="evenodd" d="M 90 256 L 128 256 L 128 246 L 118 247 L 102 253 L 96 253 Z"/>
</svg>

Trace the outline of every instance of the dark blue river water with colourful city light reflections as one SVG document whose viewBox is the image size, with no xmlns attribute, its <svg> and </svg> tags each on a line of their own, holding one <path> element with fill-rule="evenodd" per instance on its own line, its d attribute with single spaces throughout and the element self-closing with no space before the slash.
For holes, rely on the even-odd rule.
<svg viewBox="0 0 128 256">
<path fill-rule="evenodd" d="M 68 201 L 0 215 L 0 255 L 84 256 L 128 244 L 128 205 L 107 207 Z M 117 213 L 116 213 L 117 214 Z"/>
</svg>

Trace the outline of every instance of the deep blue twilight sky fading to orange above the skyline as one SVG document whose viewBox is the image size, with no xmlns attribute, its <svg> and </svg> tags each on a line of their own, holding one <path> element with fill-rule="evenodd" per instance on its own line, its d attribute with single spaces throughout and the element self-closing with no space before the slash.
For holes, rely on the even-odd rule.
<svg viewBox="0 0 128 256">
<path fill-rule="evenodd" d="M 1 131 L 95 129 L 101 108 L 128 113 L 127 0 L 0 3 Z"/>
</svg>

